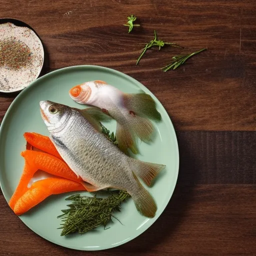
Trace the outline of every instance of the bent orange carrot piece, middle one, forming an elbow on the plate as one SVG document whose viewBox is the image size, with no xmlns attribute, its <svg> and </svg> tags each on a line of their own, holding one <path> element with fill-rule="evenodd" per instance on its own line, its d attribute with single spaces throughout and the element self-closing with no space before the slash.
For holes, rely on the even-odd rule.
<svg viewBox="0 0 256 256">
<path fill-rule="evenodd" d="M 33 150 L 25 150 L 20 154 L 25 158 L 25 165 L 17 188 L 9 201 L 11 209 L 14 209 L 18 198 L 27 190 L 29 180 L 38 169 L 77 182 L 82 181 L 80 178 L 77 178 L 76 174 L 64 161 L 61 161 L 53 155 Z"/>
</svg>

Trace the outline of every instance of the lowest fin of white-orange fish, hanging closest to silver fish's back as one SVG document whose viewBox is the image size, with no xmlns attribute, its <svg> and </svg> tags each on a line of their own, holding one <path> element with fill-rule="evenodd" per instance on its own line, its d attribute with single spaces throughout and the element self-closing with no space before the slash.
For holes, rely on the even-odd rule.
<svg viewBox="0 0 256 256">
<path fill-rule="evenodd" d="M 115 132 L 116 141 L 118 143 L 119 149 L 124 152 L 128 153 L 127 148 L 131 150 L 132 153 L 137 154 L 138 149 L 135 143 L 135 137 L 129 129 L 125 128 L 120 123 L 116 123 L 116 132 Z"/>
</svg>

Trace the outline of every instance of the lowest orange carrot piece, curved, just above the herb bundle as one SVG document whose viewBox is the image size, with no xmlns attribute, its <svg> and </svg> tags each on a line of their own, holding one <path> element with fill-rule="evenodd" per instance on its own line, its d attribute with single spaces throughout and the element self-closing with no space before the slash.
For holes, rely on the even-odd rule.
<svg viewBox="0 0 256 256">
<path fill-rule="evenodd" d="M 65 178 L 46 178 L 34 182 L 30 188 L 17 200 L 14 212 L 20 215 L 51 194 L 85 190 L 84 186 L 76 181 Z"/>
</svg>

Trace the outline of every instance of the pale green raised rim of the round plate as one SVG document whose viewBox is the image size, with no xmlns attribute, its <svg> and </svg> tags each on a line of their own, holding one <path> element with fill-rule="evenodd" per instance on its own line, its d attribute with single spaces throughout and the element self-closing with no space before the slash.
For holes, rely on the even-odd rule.
<svg viewBox="0 0 256 256">
<path fill-rule="evenodd" d="M 123 72 L 120 72 L 118 70 L 115 70 L 113 68 L 109 68 L 109 67 L 105 67 L 105 66 L 99 66 L 99 65 L 73 65 L 73 66 L 67 66 L 67 67 L 63 67 L 63 68 L 59 68 L 59 69 L 56 69 L 56 70 L 53 70 L 49 73 L 46 73 L 44 74 L 43 76 L 40 76 L 39 78 L 35 79 L 34 81 L 32 81 L 27 87 L 25 87 L 15 98 L 14 100 L 11 102 L 11 104 L 9 105 L 8 109 L 6 110 L 5 114 L 4 114 L 4 117 L 1 121 L 1 124 L 0 124 L 0 142 L 2 140 L 2 133 L 3 133 L 3 127 L 4 127 L 4 123 L 5 123 L 5 119 L 7 118 L 8 114 L 11 112 L 12 108 L 13 108 L 13 105 L 15 104 L 15 101 L 19 98 L 19 97 L 22 97 L 23 94 L 26 93 L 26 90 L 29 89 L 30 86 L 36 86 L 37 84 L 37 80 L 43 80 L 45 77 L 47 76 L 50 76 L 50 75 L 54 75 L 58 72 L 63 72 L 64 70 L 68 70 L 68 69 L 76 69 L 76 68 L 93 68 L 93 69 L 103 69 L 105 71 L 110 71 L 112 73 L 116 73 L 117 75 L 121 75 L 121 76 L 124 76 L 125 78 L 127 79 L 131 79 L 139 88 L 142 88 L 143 90 L 150 92 L 151 94 L 153 94 L 149 89 L 147 89 L 142 83 L 140 83 L 139 81 L 137 81 L 135 78 L 123 73 Z M 123 240 L 123 241 L 120 241 L 118 242 L 117 244 L 111 244 L 110 246 L 108 245 L 101 245 L 99 247 L 93 247 L 93 248 L 86 248 L 86 247 L 78 247 L 78 246 L 70 246 L 70 245 L 65 245 L 65 244 L 61 244 L 59 242 L 56 242 L 54 241 L 53 239 L 49 238 L 48 236 L 42 234 L 40 231 L 38 231 L 36 228 L 34 227 L 30 227 L 30 225 L 24 221 L 21 216 L 18 216 L 19 219 L 29 228 L 31 229 L 34 233 L 36 233 L 37 235 L 41 236 L 43 239 L 46 239 L 52 243 L 55 243 L 57 245 L 60 245 L 60 246 L 63 246 L 63 247 L 66 247 L 66 248 L 71 248 L 71 249 L 77 249 L 77 250 L 83 250 L 83 251 L 92 251 L 92 250 L 103 250 L 103 249 L 110 249 L 110 248 L 114 248 L 116 246 L 119 246 L 121 244 L 124 244 L 128 241 L 131 241 L 133 240 L 134 238 L 136 238 L 137 236 L 139 236 L 140 234 L 142 234 L 144 231 L 146 231 L 157 219 L 158 217 L 162 214 L 162 212 L 164 211 L 164 209 L 166 208 L 166 206 L 168 205 L 169 201 L 170 201 L 170 198 L 173 194 L 173 191 L 176 187 L 176 183 L 177 183 L 177 177 L 178 177 L 178 172 L 179 172 L 179 150 L 178 150 L 178 143 L 177 143 L 177 136 L 176 136 L 176 132 L 175 132 L 175 129 L 174 129 L 174 126 L 171 122 L 171 119 L 167 113 L 167 111 L 165 110 L 164 106 L 161 104 L 161 102 L 158 100 L 158 98 L 153 94 L 153 96 L 155 97 L 155 99 L 158 101 L 158 104 L 161 105 L 161 107 L 163 108 L 163 110 L 165 111 L 165 114 L 167 116 L 167 122 L 169 124 L 169 127 L 170 129 L 172 130 L 173 134 L 174 134 L 174 141 L 173 143 L 175 144 L 175 160 L 176 160 L 176 166 L 175 166 L 175 175 L 173 177 L 173 180 L 175 181 L 175 185 L 173 186 L 173 189 L 172 191 L 169 193 L 169 196 L 166 196 L 166 199 L 165 201 L 163 202 L 163 206 L 161 208 L 161 211 L 158 212 L 157 214 L 157 217 L 155 219 L 153 219 L 153 221 L 148 225 L 146 226 L 145 228 L 145 225 L 144 227 L 141 227 L 140 228 L 140 231 L 138 231 L 137 233 L 135 232 L 134 235 L 130 236 L 129 238 Z M 1 169 L 0 169 L 0 172 L 1 172 Z M 2 189 L 2 184 L 1 184 L 1 178 L 0 178 L 0 188 L 1 188 L 1 191 L 3 193 L 3 196 L 4 196 L 4 199 L 6 200 L 6 202 L 8 203 L 7 199 L 6 199 L 6 193 L 3 191 Z"/>
</svg>

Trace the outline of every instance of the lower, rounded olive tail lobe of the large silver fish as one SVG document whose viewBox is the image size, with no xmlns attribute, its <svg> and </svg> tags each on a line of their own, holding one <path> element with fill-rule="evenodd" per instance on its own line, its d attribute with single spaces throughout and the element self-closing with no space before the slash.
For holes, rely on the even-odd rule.
<svg viewBox="0 0 256 256">
<path fill-rule="evenodd" d="M 152 218 L 155 215 L 157 206 L 153 197 L 149 192 L 141 185 L 136 175 L 132 172 L 135 180 L 138 183 L 138 190 L 135 193 L 130 193 L 132 199 L 134 200 L 137 210 L 144 216 Z"/>
</svg>

